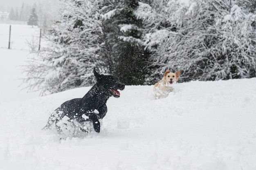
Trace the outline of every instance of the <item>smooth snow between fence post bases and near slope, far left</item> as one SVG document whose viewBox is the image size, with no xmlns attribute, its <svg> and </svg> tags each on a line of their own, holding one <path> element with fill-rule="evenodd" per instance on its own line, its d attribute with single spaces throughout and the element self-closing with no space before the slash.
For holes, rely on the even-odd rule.
<svg viewBox="0 0 256 170">
<path fill-rule="evenodd" d="M 26 64 L 28 54 L 29 52 L 25 50 L 0 48 L 0 102 L 25 100 L 39 95 L 39 92 L 22 91 L 26 86 L 22 84 L 22 78 L 25 76 L 22 65 Z"/>
</svg>

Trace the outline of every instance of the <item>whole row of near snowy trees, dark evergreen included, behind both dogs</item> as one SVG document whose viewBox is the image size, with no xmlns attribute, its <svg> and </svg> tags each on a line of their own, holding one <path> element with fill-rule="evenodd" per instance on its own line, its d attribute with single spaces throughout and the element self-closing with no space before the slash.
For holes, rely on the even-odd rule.
<svg viewBox="0 0 256 170">
<path fill-rule="evenodd" d="M 29 62 L 29 90 L 95 83 L 92 68 L 126 85 L 256 76 L 256 0 L 62 0 L 49 44 Z"/>
</svg>

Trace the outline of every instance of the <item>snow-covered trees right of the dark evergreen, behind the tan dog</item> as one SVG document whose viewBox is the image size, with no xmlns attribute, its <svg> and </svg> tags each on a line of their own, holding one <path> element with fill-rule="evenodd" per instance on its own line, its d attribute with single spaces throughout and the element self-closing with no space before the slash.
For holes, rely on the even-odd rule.
<svg viewBox="0 0 256 170">
<path fill-rule="evenodd" d="M 144 23 L 152 24 L 145 36 L 145 45 L 155 51 L 152 80 L 166 68 L 182 70 L 183 81 L 255 77 L 253 13 L 222 0 L 192 0 L 189 7 L 162 2 L 160 9 L 140 5 L 148 11 Z"/>
</svg>

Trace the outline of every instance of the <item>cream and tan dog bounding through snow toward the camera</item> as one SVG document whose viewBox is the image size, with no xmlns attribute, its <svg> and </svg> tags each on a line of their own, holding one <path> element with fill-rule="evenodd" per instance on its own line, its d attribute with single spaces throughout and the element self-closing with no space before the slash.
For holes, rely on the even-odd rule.
<svg viewBox="0 0 256 170">
<path fill-rule="evenodd" d="M 155 98 L 165 98 L 173 91 L 171 84 L 177 82 L 180 77 L 180 71 L 172 73 L 170 70 L 164 72 L 164 77 L 154 85 Z"/>
</svg>

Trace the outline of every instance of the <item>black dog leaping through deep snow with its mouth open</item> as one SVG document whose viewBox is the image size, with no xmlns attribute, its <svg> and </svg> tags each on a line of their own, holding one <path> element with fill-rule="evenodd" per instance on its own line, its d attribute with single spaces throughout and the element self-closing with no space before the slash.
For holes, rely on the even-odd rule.
<svg viewBox="0 0 256 170">
<path fill-rule="evenodd" d="M 119 90 L 124 90 L 125 85 L 119 82 L 118 77 L 112 75 L 100 75 L 94 67 L 94 75 L 97 83 L 85 94 L 83 98 L 71 99 L 59 106 L 48 119 L 47 125 L 43 129 L 49 129 L 53 125 L 58 129 L 58 122 L 67 116 L 69 122 L 82 124 L 90 121 L 95 132 L 100 132 L 100 121 L 108 109 L 106 102 L 110 96 L 120 97 Z M 88 119 L 85 119 L 85 116 Z M 82 127 L 82 126 L 80 126 Z M 82 129 L 81 129 L 82 130 Z"/>
</svg>

